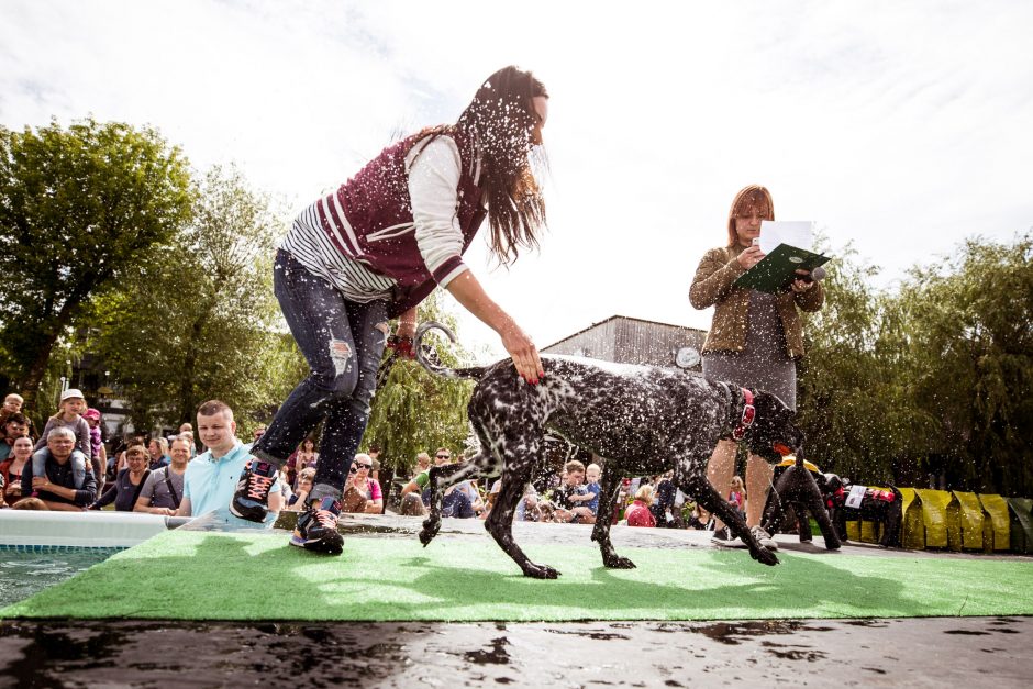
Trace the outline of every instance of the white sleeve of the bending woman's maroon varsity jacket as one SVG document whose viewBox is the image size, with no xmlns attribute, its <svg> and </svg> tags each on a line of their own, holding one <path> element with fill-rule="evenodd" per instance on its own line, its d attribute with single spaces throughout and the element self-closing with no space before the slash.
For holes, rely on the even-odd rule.
<svg viewBox="0 0 1033 689">
<path fill-rule="evenodd" d="M 434 280 L 447 287 L 467 270 L 462 257 L 463 231 L 456 216 L 459 148 L 452 137 L 438 136 L 414 146 L 406 164 L 416 246 Z"/>
</svg>

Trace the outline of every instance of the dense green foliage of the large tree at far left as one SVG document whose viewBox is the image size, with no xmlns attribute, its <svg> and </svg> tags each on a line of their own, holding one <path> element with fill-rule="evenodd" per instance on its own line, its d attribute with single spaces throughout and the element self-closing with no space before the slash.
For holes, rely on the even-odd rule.
<svg viewBox="0 0 1033 689">
<path fill-rule="evenodd" d="M 187 162 L 152 129 L 0 127 L 3 368 L 26 396 L 90 301 L 189 216 Z"/>
</svg>

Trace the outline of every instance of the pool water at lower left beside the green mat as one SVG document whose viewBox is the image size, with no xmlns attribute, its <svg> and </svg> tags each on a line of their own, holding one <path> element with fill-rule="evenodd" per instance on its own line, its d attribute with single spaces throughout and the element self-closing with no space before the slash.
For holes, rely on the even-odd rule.
<svg viewBox="0 0 1033 689">
<path fill-rule="evenodd" d="M 24 600 L 103 562 L 121 548 L 0 549 L 0 608 Z"/>
</svg>

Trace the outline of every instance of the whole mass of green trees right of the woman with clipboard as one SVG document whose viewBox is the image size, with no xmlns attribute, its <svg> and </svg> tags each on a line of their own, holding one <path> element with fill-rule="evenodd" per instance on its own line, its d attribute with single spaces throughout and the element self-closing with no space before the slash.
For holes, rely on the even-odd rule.
<svg viewBox="0 0 1033 689">
<path fill-rule="evenodd" d="M 896 293 L 837 252 L 809 316 L 800 420 L 809 456 L 858 482 L 1033 492 L 1033 262 L 969 240 Z"/>
</svg>

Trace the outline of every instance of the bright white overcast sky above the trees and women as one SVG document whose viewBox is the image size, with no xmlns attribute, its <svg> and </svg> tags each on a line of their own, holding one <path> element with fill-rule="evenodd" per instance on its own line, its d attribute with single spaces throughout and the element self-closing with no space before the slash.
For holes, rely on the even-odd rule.
<svg viewBox="0 0 1033 689">
<path fill-rule="evenodd" d="M 545 346 L 614 314 L 708 327 L 688 285 L 748 184 L 853 241 L 879 287 L 964 237 L 1010 241 L 1033 225 L 1031 30 L 1022 0 L 4 0 L 0 124 L 151 124 L 293 212 L 497 68 L 533 69 L 549 232 L 509 270 L 486 232 L 467 258 Z"/>
</svg>

